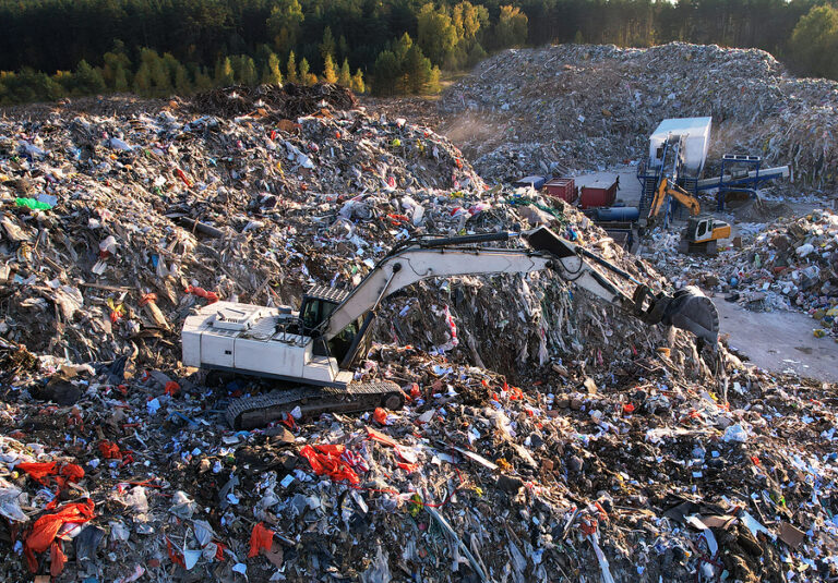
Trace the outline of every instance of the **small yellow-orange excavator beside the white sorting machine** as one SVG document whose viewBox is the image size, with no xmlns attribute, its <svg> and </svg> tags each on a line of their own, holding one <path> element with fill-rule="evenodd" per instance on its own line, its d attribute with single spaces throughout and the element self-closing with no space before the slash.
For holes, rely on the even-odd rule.
<svg viewBox="0 0 838 583">
<path fill-rule="evenodd" d="M 718 251 L 719 239 L 730 236 L 730 224 L 714 217 L 698 217 L 702 211 L 702 205 L 698 199 L 678 184 L 670 184 L 667 177 L 660 180 L 660 184 L 658 184 L 655 191 L 655 198 L 653 198 L 649 209 L 650 219 L 660 214 L 667 196 L 671 196 L 684 205 L 690 210 L 690 215 L 692 215 L 686 229 L 684 229 L 681 235 L 679 251 L 682 253 L 715 255 Z"/>
</svg>

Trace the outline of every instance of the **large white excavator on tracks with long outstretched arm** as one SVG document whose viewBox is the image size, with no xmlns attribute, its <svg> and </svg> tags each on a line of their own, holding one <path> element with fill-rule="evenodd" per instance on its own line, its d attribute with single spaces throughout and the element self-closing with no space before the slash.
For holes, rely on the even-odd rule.
<svg viewBox="0 0 838 583">
<path fill-rule="evenodd" d="M 519 240 L 526 247 L 488 247 Z M 636 284 L 626 295 L 599 269 Z M 216 302 L 194 308 L 182 338 L 187 366 L 226 374 L 265 377 L 290 388 L 236 399 L 225 414 L 234 428 L 262 427 L 272 421 L 324 412 L 397 410 L 404 393 L 392 381 L 356 382 L 354 364 L 370 347 L 370 325 L 382 301 L 426 278 L 529 274 L 550 269 L 601 301 L 648 325 L 663 324 L 694 333 L 716 347 L 719 316 L 697 288 L 674 295 L 654 293 L 630 274 L 556 235 L 546 227 L 520 233 L 498 232 L 407 240 L 384 256 L 352 290 L 315 286 L 298 311 Z"/>
</svg>

